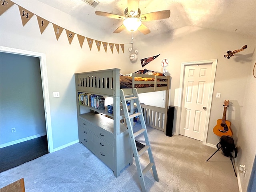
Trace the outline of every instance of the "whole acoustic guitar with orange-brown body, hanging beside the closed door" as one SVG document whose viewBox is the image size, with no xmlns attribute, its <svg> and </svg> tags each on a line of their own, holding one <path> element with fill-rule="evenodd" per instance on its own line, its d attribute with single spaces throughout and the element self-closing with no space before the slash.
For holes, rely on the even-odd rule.
<svg viewBox="0 0 256 192">
<path fill-rule="evenodd" d="M 227 112 L 227 107 L 229 106 L 229 100 L 224 101 L 224 111 L 223 111 L 223 116 L 222 119 L 217 120 L 216 126 L 213 128 L 214 134 L 217 136 L 232 136 L 233 132 L 230 128 L 231 122 L 226 120 L 226 112 Z"/>
</svg>

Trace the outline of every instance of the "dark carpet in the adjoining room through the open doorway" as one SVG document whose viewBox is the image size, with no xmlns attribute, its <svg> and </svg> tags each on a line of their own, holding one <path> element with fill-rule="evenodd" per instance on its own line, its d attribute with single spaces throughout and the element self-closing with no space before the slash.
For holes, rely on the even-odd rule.
<svg viewBox="0 0 256 192">
<path fill-rule="evenodd" d="M 0 148 L 0 172 L 48 153 L 47 136 Z"/>
</svg>

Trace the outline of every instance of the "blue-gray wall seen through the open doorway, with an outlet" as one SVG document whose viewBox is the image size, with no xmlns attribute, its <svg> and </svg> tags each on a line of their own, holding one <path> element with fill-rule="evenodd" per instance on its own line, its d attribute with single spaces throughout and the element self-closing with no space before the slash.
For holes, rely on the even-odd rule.
<svg viewBox="0 0 256 192">
<path fill-rule="evenodd" d="M 0 104 L 0 144 L 46 133 L 39 58 L 0 52 Z"/>
</svg>

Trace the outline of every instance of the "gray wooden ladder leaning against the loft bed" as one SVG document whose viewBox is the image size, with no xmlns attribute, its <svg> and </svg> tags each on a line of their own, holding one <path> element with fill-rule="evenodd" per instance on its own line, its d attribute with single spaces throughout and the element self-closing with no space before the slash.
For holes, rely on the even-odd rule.
<svg viewBox="0 0 256 192">
<path fill-rule="evenodd" d="M 129 131 L 129 136 L 130 136 L 131 145 L 132 145 L 132 151 L 133 151 L 134 159 L 135 159 L 135 162 L 136 162 L 137 172 L 138 172 L 138 176 L 139 176 L 139 180 L 140 180 L 140 186 L 142 188 L 142 192 L 146 192 L 146 185 L 145 185 L 144 176 L 151 168 L 152 168 L 152 171 L 153 171 L 154 179 L 156 181 L 159 181 L 159 179 L 158 179 L 158 175 L 157 175 L 157 172 L 156 172 L 156 165 L 155 165 L 152 150 L 151 150 L 151 147 L 150 147 L 150 142 L 148 140 L 148 132 L 147 132 L 145 120 L 144 120 L 144 117 L 143 117 L 142 108 L 140 106 L 140 101 L 139 101 L 139 98 L 138 98 L 138 92 L 137 92 L 136 88 L 133 88 L 132 89 L 132 94 L 124 95 L 124 91 L 122 89 L 120 89 L 120 97 L 121 97 L 121 101 L 122 101 L 124 115 L 125 115 L 125 118 L 126 118 L 127 128 L 128 128 L 128 131 Z M 130 113 L 128 111 L 126 101 L 130 101 Z M 137 105 L 136 107 L 138 109 L 138 113 L 133 112 L 134 102 Z M 133 125 L 133 118 L 136 117 L 136 116 L 139 116 L 142 128 L 139 131 L 133 133 L 133 126 L 132 126 Z M 138 151 L 137 147 L 136 147 L 135 138 L 137 136 L 141 135 L 141 134 L 144 135 L 146 146 L 144 146 L 140 151 Z M 139 157 L 142 154 L 144 154 L 146 151 L 148 151 L 148 156 L 149 156 L 150 163 L 142 170 L 142 166 L 140 164 Z"/>
</svg>

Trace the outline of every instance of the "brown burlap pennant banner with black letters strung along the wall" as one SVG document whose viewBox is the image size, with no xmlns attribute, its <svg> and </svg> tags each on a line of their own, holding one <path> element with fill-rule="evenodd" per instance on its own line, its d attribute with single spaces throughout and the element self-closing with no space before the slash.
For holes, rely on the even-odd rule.
<svg viewBox="0 0 256 192">
<path fill-rule="evenodd" d="M 6 12 L 6 10 L 8 10 L 14 4 L 16 4 L 16 3 L 12 2 L 11 0 L 0 0 L 0 15 L 2 15 L 4 12 Z M 30 12 L 29 10 L 24 9 L 23 7 L 21 7 L 19 5 L 17 5 L 17 6 L 20 10 L 20 17 L 21 17 L 21 20 L 22 20 L 22 26 L 25 26 L 26 23 L 34 16 L 34 13 Z M 39 26 L 40 32 L 41 32 L 41 34 L 43 34 L 44 30 L 46 29 L 46 27 L 48 26 L 48 24 L 50 22 L 48 20 L 38 16 L 38 15 L 36 15 L 36 18 L 37 18 L 37 21 L 38 21 L 38 26 Z M 56 36 L 56 40 L 58 41 L 58 39 L 60 38 L 60 35 L 62 34 L 62 31 L 64 30 L 64 28 L 62 28 L 62 27 L 60 27 L 60 26 L 58 26 L 54 23 L 52 23 L 52 26 L 54 28 L 54 33 L 55 33 L 55 36 Z M 66 34 L 67 34 L 67 37 L 68 37 L 68 42 L 69 42 L 69 44 L 71 44 L 71 42 L 72 42 L 76 33 L 71 32 L 67 29 L 65 29 L 65 30 L 66 30 Z M 79 41 L 79 44 L 80 44 L 81 48 L 84 44 L 84 39 L 86 38 L 90 50 L 92 50 L 92 44 L 93 44 L 93 41 L 95 41 L 96 46 L 98 48 L 98 52 L 100 52 L 100 46 L 102 44 L 102 46 L 104 47 L 105 52 L 107 53 L 108 44 L 109 44 L 110 50 L 111 50 L 112 53 L 113 53 L 113 50 L 114 50 L 114 46 L 116 47 L 116 50 L 117 50 L 118 53 L 119 53 L 119 48 L 121 46 L 121 48 L 123 50 L 123 53 L 124 53 L 124 44 L 114 44 L 114 43 L 101 42 L 101 41 L 94 40 L 94 39 L 91 39 L 91 38 L 88 38 L 88 37 L 85 37 L 85 36 L 82 36 L 82 35 L 78 35 L 78 34 L 76 34 L 76 35 L 78 37 L 78 41 Z"/>
</svg>

